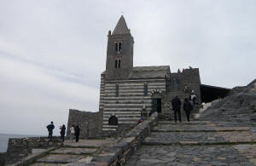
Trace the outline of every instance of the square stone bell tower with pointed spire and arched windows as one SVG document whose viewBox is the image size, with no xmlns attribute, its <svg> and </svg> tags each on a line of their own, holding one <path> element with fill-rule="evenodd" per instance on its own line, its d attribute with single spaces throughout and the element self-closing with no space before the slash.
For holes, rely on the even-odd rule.
<svg viewBox="0 0 256 166">
<path fill-rule="evenodd" d="M 106 80 L 128 79 L 133 67 L 133 37 L 121 15 L 113 33 L 108 31 Z"/>
</svg>

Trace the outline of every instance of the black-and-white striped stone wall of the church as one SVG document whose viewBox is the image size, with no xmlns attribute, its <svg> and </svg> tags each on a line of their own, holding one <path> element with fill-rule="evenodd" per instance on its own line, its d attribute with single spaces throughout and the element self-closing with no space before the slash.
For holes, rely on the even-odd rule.
<svg viewBox="0 0 256 166">
<path fill-rule="evenodd" d="M 119 84 L 119 96 L 116 96 L 116 84 Z M 144 95 L 144 83 L 148 83 L 148 95 Z M 102 88 L 104 86 L 104 88 Z M 136 124 L 141 117 L 143 107 L 147 112 L 151 111 L 151 95 L 158 91 L 162 94 L 166 91 L 166 79 L 137 79 L 105 81 L 101 84 L 100 106 L 103 107 L 103 131 L 115 131 L 118 126 L 109 126 L 108 119 L 111 116 L 118 118 L 120 126 Z"/>
</svg>

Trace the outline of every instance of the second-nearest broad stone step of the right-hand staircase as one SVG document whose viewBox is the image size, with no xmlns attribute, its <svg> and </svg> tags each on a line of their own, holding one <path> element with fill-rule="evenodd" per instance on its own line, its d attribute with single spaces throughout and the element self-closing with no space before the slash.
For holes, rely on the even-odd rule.
<svg viewBox="0 0 256 166">
<path fill-rule="evenodd" d="M 152 132 L 143 145 L 218 145 L 256 143 L 256 133 L 225 132 Z"/>
</svg>

